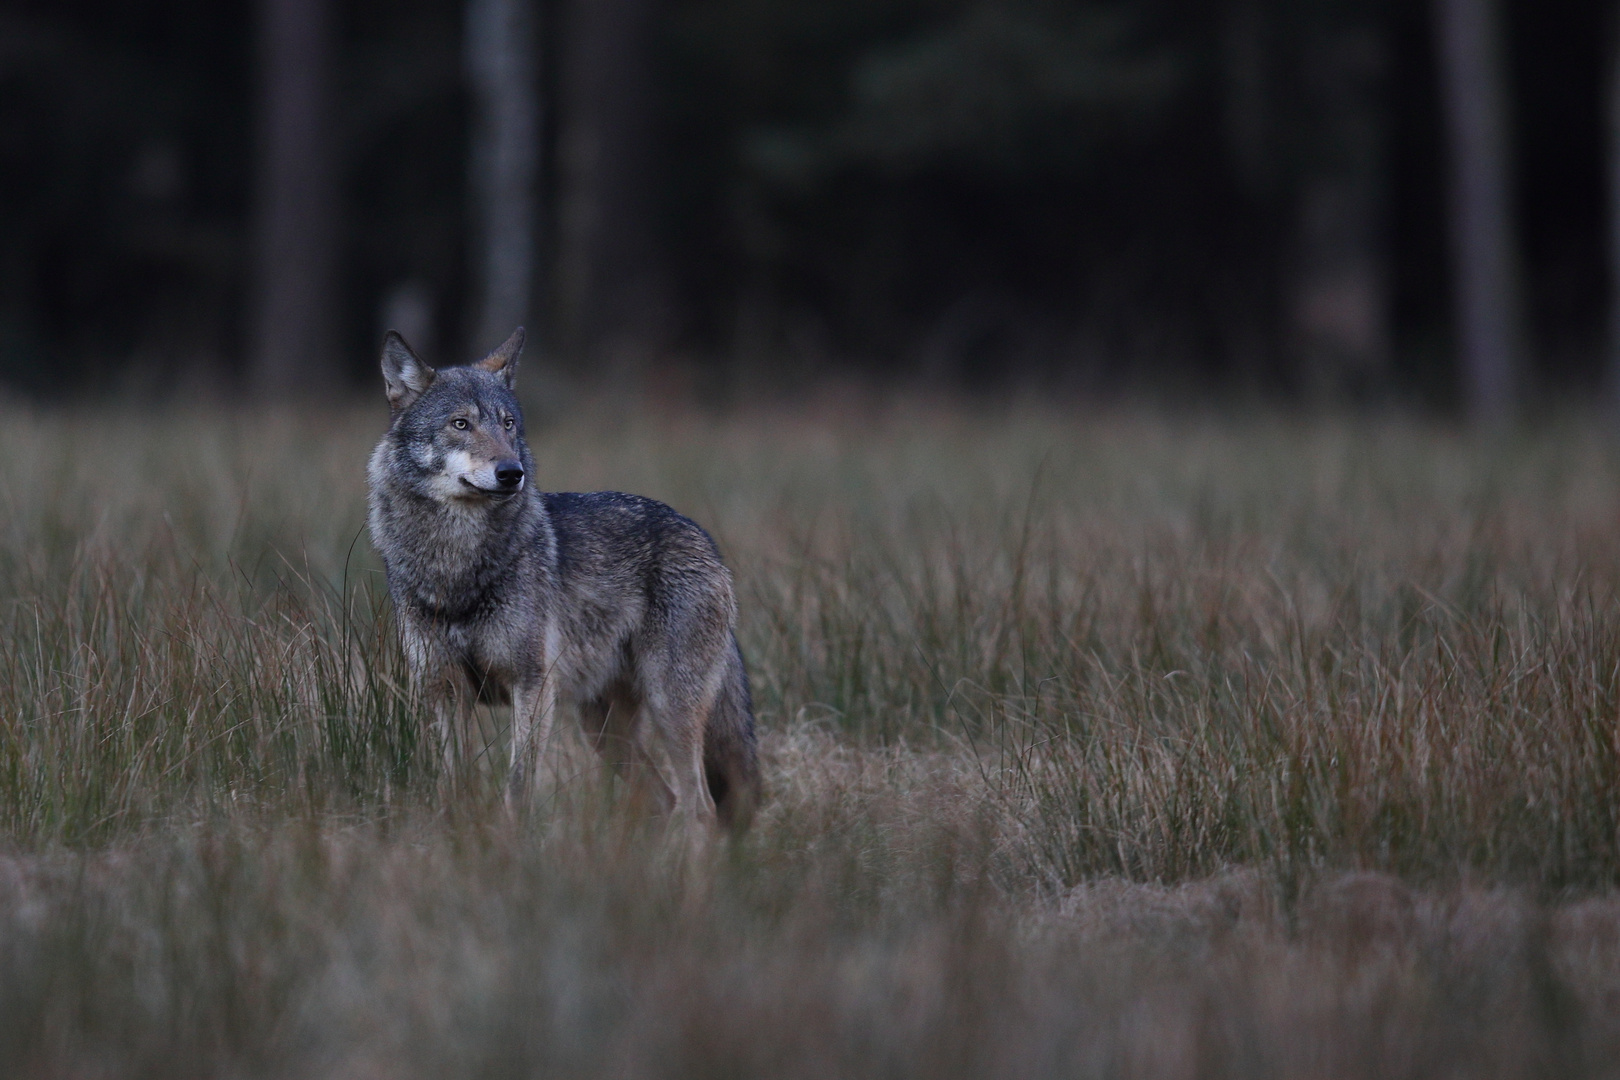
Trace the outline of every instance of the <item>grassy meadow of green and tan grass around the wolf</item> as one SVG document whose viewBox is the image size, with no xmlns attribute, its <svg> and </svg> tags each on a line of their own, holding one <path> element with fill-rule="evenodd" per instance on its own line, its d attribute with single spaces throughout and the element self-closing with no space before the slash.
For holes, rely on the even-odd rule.
<svg viewBox="0 0 1620 1080">
<path fill-rule="evenodd" d="M 386 423 L 0 408 L 0 1074 L 1620 1075 L 1620 449 L 582 405 L 742 601 L 766 801 L 454 776 Z M 578 766 L 578 767 L 575 767 Z"/>
</svg>

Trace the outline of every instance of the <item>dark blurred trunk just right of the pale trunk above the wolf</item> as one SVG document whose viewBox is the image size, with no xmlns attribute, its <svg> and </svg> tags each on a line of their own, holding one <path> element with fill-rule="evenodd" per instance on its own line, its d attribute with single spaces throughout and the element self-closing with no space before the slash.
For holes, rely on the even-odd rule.
<svg viewBox="0 0 1620 1080">
<path fill-rule="evenodd" d="M 659 350 L 650 37 L 656 0 L 572 0 L 562 60 L 559 308 L 578 361 L 625 372 Z"/>
</svg>

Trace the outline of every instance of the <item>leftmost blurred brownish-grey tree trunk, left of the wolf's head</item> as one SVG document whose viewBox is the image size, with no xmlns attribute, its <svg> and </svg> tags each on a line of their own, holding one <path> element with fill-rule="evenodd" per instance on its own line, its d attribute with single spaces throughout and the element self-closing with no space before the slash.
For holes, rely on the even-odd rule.
<svg viewBox="0 0 1620 1080">
<path fill-rule="evenodd" d="M 334 376 L 337 175 L 329 136 L 327 0 L 259 2 L 251 384 L 267 397 Z"/>
</svg>

